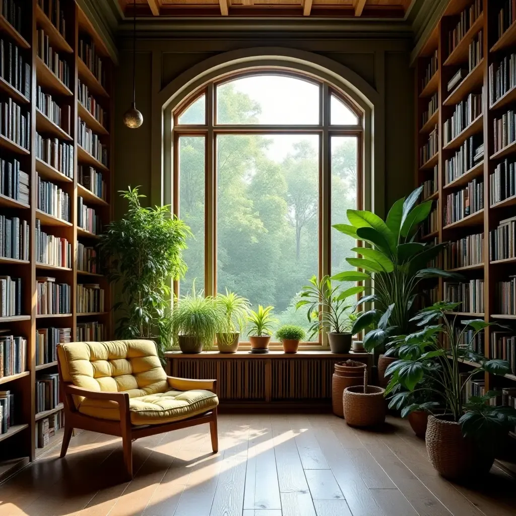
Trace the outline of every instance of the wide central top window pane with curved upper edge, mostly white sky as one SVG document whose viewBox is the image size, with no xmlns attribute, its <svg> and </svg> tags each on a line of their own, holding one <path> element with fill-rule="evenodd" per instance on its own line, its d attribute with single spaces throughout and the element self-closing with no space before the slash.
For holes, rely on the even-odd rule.
<svg viewBox="0 0 516 516">
<path fill-rule="evenodd" d="M 250 75 L 217 86 L 219 124 L 318 124 L 319 86 L 282 75 Z"/>
</svg>

